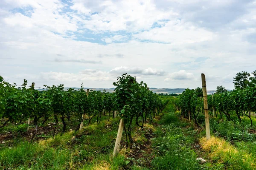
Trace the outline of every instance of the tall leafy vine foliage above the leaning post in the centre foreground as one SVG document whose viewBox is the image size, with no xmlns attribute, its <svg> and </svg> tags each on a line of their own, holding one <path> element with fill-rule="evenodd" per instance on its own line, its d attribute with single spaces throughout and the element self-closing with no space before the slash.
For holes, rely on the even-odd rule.
<svg viewBox="0 0 256 170">
<path fill-rule="evenodd" d="M 131 125 L 133 119 L 136 121 L 138 127 L 143 128 L 144 120 L 147 116 L 163 111 L 163 108 L 168 103 L 168 100 L 161 100 L 157 97 L 157 94 L 153 94 L 152 91 L 148 91 L 146 83 L 138 83 L 134 77 L 128 74 L 123 74 L 122 77 L 117 77 L 117 82 L 114 82 L 115 88 L 115 105 L 119 110 L 121 117 L 125 121 L 125 132 L 130 142 L 131 137 Z M 145 115 L 144 115 L 145 113 Z M 144 117 L 145 116 L 145 117 Z M 139 125 L 139 119 L 142 119 L 142 125 Z"/>
</svg>

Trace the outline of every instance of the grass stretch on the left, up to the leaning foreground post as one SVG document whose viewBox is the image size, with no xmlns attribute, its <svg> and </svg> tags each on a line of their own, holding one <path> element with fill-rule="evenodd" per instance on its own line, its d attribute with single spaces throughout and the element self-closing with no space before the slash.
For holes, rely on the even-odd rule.
<svg viewBox="0 0 256 170">
<path fill-rule="evenodd" d="M 102 121 L 84 126 L 81 133 L 67 132 L 30 144 L 17 141 L 0 149 L 0 169 L 27 170 L 116 170 L 126 166 L 125 156 L 111 159 L 118 125 Z"/>
</svg>

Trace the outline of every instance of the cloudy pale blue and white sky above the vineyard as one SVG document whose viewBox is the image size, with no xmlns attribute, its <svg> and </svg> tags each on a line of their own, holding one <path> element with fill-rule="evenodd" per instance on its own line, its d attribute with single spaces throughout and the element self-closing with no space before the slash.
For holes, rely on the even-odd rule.
<svg viewBox="0 0 256 170">
<path fill-rule="evenodd" d="M 0 76 L 29 85 L 218 85 L 256 70 L 256 0 L 0 0 Z"/>
</svg>

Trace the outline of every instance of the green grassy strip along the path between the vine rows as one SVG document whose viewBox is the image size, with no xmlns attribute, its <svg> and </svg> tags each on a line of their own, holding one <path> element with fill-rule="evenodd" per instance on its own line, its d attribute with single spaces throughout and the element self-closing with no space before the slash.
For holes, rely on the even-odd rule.
<svg viewBox="0 0 256 170">
<path fill-rule="evenodd" d="M 152 161 L 152 169 L 201 169 L 201 165 L 196 160 L 197 154 L 190 148 L 193 140 L 185 136 L 179 126 L 188 123 L 181 122 L 173 112 L 164 115 L 159 123 L 162 126 L 157 128 L 157 137 L 152 140 L 156 155 Z"/>
</svg>

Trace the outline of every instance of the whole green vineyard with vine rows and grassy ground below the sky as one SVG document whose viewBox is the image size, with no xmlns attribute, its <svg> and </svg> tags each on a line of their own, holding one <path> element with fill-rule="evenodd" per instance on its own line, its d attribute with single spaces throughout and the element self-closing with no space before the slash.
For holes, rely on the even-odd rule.
<svg viewBox="0 0 256 170">
<path fill-rule="evenodd" d="M 113 83 L 114 93 L 83 84 L 77 91 L 64 85 L 38 91 L 26 80 L 17 88 L 0 77 L 0 167 L 253 170 L 256 71 L 249 75 L 238 73 L 233 91 L 188 88 L 178 96 L 154 94 L 128 74 Z"/>
</svg>

